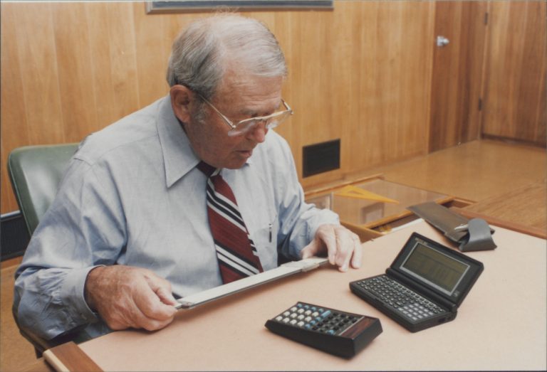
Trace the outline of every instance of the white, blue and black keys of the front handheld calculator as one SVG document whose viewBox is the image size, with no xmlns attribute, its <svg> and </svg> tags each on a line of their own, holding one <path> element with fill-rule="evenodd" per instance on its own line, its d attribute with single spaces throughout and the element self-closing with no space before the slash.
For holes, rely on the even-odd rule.
<svg viewBox="0 0 547 372">
<path fill-rule="evenodd" d="M 338 335 L 363 317 L 298 302 L 274 319 L 308 331 Z"/>
</svg>

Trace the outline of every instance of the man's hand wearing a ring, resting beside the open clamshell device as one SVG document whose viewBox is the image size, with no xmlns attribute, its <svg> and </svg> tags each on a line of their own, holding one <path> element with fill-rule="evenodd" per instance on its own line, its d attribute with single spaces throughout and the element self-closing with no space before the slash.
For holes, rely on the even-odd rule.
<svg viewBox="0 0 547 372">
<path fill-rule="evenodd" d="M 347 271 L 349 265 L 354 269 L 361 267 L 363 248 L 358 235 L 340 225 L 321 225 L 313 241 L 303 248 L 302 258 L 327 253 L 328 262 L 337 265 L 338 270 Z"/>
</svg>

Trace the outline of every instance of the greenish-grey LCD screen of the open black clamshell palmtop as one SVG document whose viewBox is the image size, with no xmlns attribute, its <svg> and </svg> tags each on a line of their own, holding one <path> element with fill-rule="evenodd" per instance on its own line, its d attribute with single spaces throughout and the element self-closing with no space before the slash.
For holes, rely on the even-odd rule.
<svg viewBox="0 0 547 372">
<path fill-rule="evenodd" d="M 405 262 L 402 262 L 401 270 L 452 296 L 469 270 L 469 265 L 427 245 L 416 243 Z"/>
</svg>

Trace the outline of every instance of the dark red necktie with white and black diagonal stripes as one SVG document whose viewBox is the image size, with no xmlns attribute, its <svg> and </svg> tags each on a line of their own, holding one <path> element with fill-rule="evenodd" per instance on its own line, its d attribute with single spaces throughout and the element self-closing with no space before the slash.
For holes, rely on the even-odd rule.
<svg viewBox="0 0 547 372">
<path fill-rule="evenodd" d="M 197 168 L 207 179 L 207 216 L 217 250 L 224 284 L 262 272 L 253 240 L 249 236 L 236 197 L 219 174 L 220 169 L 200 162 Z"/>
</svg>

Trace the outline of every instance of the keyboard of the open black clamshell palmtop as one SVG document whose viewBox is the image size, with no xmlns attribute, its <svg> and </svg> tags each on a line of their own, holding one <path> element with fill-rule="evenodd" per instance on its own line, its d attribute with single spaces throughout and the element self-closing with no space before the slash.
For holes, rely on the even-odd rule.
<svg viewBox="0 0 547 372">
<path fill-rule="evenodd" d="M 420 321 L 445 312 L 437 304 L 386 275 L 361 280 L 357 285 L 380 297 L 383 302 L 390 304 L 412 321 Z"/>
</svg>

